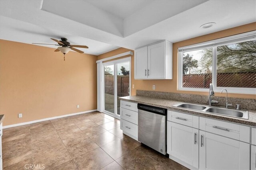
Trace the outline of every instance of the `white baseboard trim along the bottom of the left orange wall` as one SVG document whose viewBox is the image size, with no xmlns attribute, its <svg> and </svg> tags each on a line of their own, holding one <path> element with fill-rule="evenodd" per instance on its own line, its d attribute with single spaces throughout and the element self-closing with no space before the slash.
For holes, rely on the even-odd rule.
<svg viewBox="0 0 256 170">
<path fill-rule="evenodd" d="M 3 129 L 9 128 L 9 127 L 16 127 L 16 126 L 28 125 L 28 124 L 31 124 L 31 123 L 37 123 L 37 122 L 41 122 L 41 121 L 47 121 L 47 120 L 52 120 L 52 119 L 58 119 L 58 118 L 62 118 L 62 117 L 80 115 L 80 114 L 83 114 L 83 113 L 90 113 L 90 112 L 93 112 L 93 111 L 97 111 L 97 109 L 95 109 L 95 110 L 88 110 L 88 111 L 82 111 L 82 112 L 78 112 L 78 113 L 71 113 L 71 114 L 68 114 L 68 115 L 61 115 L 61 116 L 49 117 L 49 118 L 44 118 L 44 119 L 39 119 L 39 120 L 34 120 L 34 121 L 27 121 L 27 122 L 17 123 L 17 124 L 13 124 L 13 125 L 7 125 L 7 126 L 3 126 Z"/>
</svg>

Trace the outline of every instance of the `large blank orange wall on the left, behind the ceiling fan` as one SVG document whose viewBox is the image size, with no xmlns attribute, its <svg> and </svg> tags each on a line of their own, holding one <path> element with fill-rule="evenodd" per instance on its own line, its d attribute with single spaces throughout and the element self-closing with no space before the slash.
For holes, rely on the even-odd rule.
<svg viewBox="0 0 256 170">
<path fill-rule="evenodd" d="M 52 48 L 0 40 L 3 124 L 96 109 L 96 59 L 70 51 L 63 61 L 63 54 Z"/>
</svg>

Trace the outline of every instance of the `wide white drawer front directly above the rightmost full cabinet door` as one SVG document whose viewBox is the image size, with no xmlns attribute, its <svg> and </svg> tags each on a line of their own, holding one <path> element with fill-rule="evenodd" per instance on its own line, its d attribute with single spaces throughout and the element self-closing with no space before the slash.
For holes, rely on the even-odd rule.
<svg viewBox="0 0 256 170">
<path fill-rule="evenodd" d="M 250 143 L 249 126 L 200 117 L 199 128 L 203 131 Z"/>
</svg>

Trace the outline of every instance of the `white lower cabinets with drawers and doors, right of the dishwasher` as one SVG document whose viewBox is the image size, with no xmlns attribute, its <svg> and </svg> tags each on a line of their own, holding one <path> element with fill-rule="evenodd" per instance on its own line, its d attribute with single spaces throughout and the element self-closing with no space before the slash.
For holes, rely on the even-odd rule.
<svg viewBox="0 0 256 170">
<path fill-rule="evenodd" d="M 167 115 L 170 159 L 190 169 L 249 170 L 251 166 L 256 170 L 256 146 L 250 145 L 249 126 L 172 113 Z"/>
</svg>

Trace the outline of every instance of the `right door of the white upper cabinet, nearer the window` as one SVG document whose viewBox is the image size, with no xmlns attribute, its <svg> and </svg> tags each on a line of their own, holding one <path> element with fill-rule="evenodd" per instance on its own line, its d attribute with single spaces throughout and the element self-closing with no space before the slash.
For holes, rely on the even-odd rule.
<svg viewBox="0 0 256 170">
<path fill-rule="evenodd" d="M 165 42 L 148 46 L 148 78 L 165 78 Z"/>
</svg>

